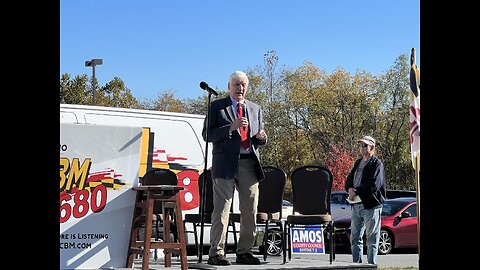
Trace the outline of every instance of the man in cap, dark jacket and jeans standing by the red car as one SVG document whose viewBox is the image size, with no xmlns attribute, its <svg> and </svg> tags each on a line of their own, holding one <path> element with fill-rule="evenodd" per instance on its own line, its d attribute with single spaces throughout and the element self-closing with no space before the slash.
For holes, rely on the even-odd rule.
<svg viewBox="0 0 480 270">
<path fill-rule="evenodd" d="M 350 243 L 353 262 L 362 262 L 363 235 L 367 237 L 367 261 L 377 264 L 382 206 L 385 201 L 383 163 L 375 154 L 375 139 L 364 136 L 358 142 L 357 159 L 345 181 L 345 191 L 352 204 Z"/>
</svg>

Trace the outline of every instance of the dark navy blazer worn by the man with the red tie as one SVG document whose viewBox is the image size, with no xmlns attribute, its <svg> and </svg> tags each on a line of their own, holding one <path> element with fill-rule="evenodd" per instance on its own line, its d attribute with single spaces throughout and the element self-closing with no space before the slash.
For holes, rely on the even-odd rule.
<svg viewBox="0 0 480 270">
<path fill-rule="evenodd" d="M 255 137 L 263 127 L 262 110 L 254 102 L 245 100 L 247 108 L 247 117 L 249 123 L 250 143 L 255 153 L 257 166 L 256 173 L 258 181 L 265 178 L 260 165 L 260 154 L 258 147 L 264 145 L 267 139 L 259 140 Z M 232 131 L 229 135 L 230 125 L 237 118 L 234 111 L 232 100 L 229 96 L 218 99 L 210 104 L 210 115 L 208 125 L 208 141 L 213 143 L 212 160 L 212 178 L 233 178 L 238 168 L 238 159 L 240 157 L 240 134 L 238 131 Z M 205 117 L 202 136 L 206 141 L 206 123 Z"/>
</svg>

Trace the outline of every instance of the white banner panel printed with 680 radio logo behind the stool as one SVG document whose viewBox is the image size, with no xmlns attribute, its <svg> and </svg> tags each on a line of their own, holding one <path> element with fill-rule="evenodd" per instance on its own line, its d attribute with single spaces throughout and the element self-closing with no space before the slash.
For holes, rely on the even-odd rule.
<svg viewBox="0 0 480 270">
<path fill-rule="evenodd" d="M 60 269 L 125 267 L 142 128 L 60 124 Z"/>
</svg>

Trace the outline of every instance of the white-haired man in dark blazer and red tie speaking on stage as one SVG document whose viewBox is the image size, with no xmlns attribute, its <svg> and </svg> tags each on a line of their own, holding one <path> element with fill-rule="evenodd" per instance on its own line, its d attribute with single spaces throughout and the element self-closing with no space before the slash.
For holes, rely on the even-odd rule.
<svg viewBox="0 0 480 270">
<path fill-rule="evenodd" d="M 213 143 L 212 180 L 214 211 L 210 229 L 208 263 L 230 265 L 225 239 L 235 188 L 239 194 L 240 237 L 236 250 L 239 264 L 260 264 L 252 255 L 257 230 L 258 182 L 264 178 L 258 147 L 267 142 L 262 110 L 245 99 L 248 77 L 235 71 L 229 77 L 229 96 L 211 103 L 203 139 Z"/>
</svg>

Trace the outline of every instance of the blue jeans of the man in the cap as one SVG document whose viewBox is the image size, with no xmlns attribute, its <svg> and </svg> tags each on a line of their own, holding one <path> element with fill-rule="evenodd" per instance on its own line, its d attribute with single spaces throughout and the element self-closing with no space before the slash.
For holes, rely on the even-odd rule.
<svg viewBox="0 0 480 270">
<path fill-rule="evenodd" d="M 380 242 L 382 205 L 364 209 L 363 204 L 354 204 L 352 210 L 350 244 L 353 262 L 362 262 L 363 235 L 367 237 L 367 261 L 377 264 L 378 243 Z"/>
</svg>

